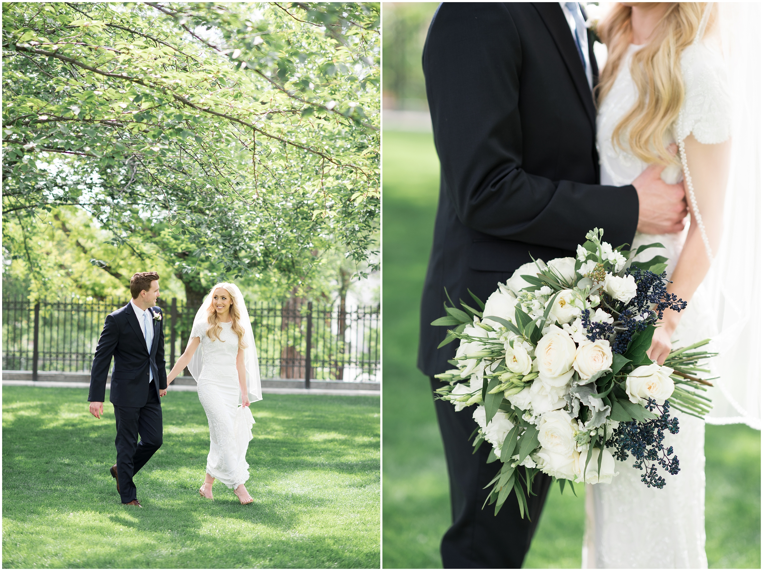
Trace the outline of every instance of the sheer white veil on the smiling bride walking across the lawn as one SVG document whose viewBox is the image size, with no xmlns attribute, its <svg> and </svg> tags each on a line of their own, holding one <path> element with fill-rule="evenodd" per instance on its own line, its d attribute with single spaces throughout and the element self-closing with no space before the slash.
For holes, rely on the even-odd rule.
<svg viewBox="0 0 763 571">
<path fill-rule="evenodd" d="M 229 294 L 233 303 L 236 305 L 239 315 L 240 323 L 243 327 L 243 342 L 246 344 L 244 352 L 244 366 L 246 367 L 246 391 L 249 393 L 250 402 L 256 402 L 262 400 L 262 387 L 259 383 L 259 363 L 257 361 L 257 348 L 254 345 L 254 332 L 252 331 L 252 322 L 249 319 L 249 311 L 246 310 L 246 303 L 244 302 L 241 290 L 238 289 L 233 283 L 221 282 L 215 284 L 215 286 L 209 290 L 209 294 L 204 298 L 204 303 L 196 311 L 196 317 L 193 320 L 194 327 L 197 324 L 204 328 L 208 327 L 207 316 L 209 315 L 209 308 L 212 305 L 212 296 L 214 290 L 217 288 L 225 289 Z M 198 382 L 198 376 L 201 374 L 201 365 L 204 363 L 204 346 L 199 345 L 196 352 L 191 357 L 191 362 L 188 363 L 188 370 L 191 371 L 193 378 Z"/>
</svg>

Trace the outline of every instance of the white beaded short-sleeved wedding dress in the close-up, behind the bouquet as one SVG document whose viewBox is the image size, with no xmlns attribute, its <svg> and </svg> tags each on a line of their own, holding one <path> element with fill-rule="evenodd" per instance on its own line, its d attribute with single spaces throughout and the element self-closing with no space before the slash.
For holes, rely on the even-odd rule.
<svg viewBox="0 0 763 571">
<path fill-rule="evenodd" d="M 636 156 L 612 144 L 612 133 L 620 119 L 636 102 L 636 86 L 630 75 L 630 60 L 639 46 L 631 45 L 620 73 L 602 102 L 597 118 L 597 146 L 601 163 L 601 183 L 629 185 L 646 168 Z M 730 136 L 730 98 L 725 88 L 720 56 L 705 44 L 688 47 L 681 56 L 685 98 L 681 116 L 674 125 L 674 137 L 694 137 L 703 144 L 721 143 Z M 678 167 L 665 169 L 665 182 L 678 182 Z M 665 249 L 642 252 L 639 261 L 655 255 L 668 258 L 670 277 L 686 232 L 659 236 L 636 234 L 633 247 L 660 242 Z M 703 303 L 702 287 L 697 290 L 674 334 L 674 346 L 693 344 L 713 334 L 713 314 Z M 587 486 L 586 533 L 583 567 L 603 568 L 707 568 L 705 555 L 704 421 L 678 411 L 680 431 L 665 438 L 680 460 L 681 472 L 671 476 L 662 469 L 663 489 L 647 488 L 633 459 L 616 460 L 616 476 L 609 485 Z"/>
</svg>

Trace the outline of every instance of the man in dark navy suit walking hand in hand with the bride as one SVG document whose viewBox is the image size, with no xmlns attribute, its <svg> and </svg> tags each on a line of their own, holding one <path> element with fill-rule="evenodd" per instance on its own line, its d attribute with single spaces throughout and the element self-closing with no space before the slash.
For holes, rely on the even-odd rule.
<svg viewBox="0 0 763 571">
<path fill-rule="evenodd" d="M 111 476 L 124 505 L 142 508 L 137 501 L 133 476 L 162 446 L 162 405 L 166 395 L 164 332 L 159 298 L 159 274 L 140 272 L 130 278 L 132 300 L 106 316 L 95 348 L 90 373 L 90 413 L 103 415 L 106 378 L 111 373 L 111 396 L 117 420 L 117 463 Z M 140 435 L 140 442 L 138 436 Z"/>
</svg>

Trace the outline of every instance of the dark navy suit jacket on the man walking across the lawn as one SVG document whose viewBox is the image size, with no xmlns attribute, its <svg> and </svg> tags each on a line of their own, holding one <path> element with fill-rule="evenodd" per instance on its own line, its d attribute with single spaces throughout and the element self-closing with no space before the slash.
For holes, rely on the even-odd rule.
<svg viewBox="0 0 763 571">
<path fill-rule="evenodd" d="M 155 315 L 162 315 L 158 306 L 151 308 L 151 311 Z M 112 356 L 114 371 L 111 373 L 109 400 L 114 405 L 138 408 L 146 405 L 149 371 L 153 373 L 157 395 L 159 389 L 167 388 L 163 320 L 153 319 L 152 322 L 153 343 L 149 352 L 146 350 L 146 340 L 132 303 L 106 316 L 90 371 L 90 402 L 104 401 Z"/>
</svg>

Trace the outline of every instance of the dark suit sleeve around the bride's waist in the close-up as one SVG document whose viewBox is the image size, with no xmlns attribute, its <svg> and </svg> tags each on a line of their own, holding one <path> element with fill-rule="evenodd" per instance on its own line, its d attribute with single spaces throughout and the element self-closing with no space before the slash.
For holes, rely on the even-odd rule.
<svg viewBox="0 0 763 571">
<path fill-rule="evenodd" d="M 504 240 L 575 250 L 594 227 L 630 243 L 633 186 L 552 181 L 523 169 L 520 36 L 501 3 L 445 2 L 423 53 L 441 176 L 462 224 Z"/>
</svg>

